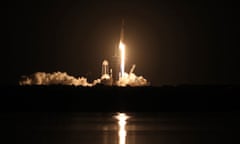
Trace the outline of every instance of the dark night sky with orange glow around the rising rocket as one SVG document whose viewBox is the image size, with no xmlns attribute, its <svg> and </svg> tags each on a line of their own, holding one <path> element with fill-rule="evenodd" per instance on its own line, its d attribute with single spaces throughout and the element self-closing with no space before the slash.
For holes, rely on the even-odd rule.
<svg viewBox="0 0 240 144">
<path fill-rule="evenodd" d="M 9 1 L 1 83 L 37 71 L 91 81 L 110 60 L 125 19 L 126 70 L 152 85 L 240 83 L 229 0 Z M 111 63 L 111 61 L 110 61 Z"/>
</svg>

